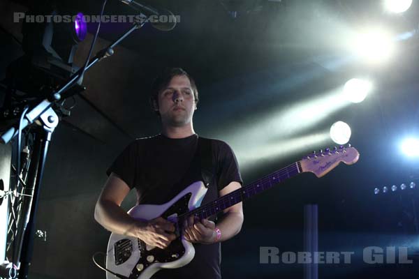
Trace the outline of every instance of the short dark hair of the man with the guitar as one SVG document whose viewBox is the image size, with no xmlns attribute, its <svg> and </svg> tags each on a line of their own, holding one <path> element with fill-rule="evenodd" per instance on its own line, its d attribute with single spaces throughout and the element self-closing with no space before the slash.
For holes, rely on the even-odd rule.
<svg viewBox="0 0 419 279">
<path fill-rule="evenodd" d="M 152 105 L 152 109 L 155 111 L 156 105 L 159 105 L 159 92 L 161 89 L 168 86 L 170 83 L 170 80 L 172 80 L 173 77 L 176 77 L 177 75 L 184 75 L 188 77 L 189 82 L 191 82 L 191 87 L 193 91 L 193 96 L 195 97 L 195 103 L 198 103 L 198 89 L 196 88 L 195 81 L 189 75 L 186 73 L 185 70 L 182 68 L 165 68 L 157 77 L 154 79 L 152 84 L 152 91 L 150 94 L 150 104 Z M 156 112 L 158 115 L 160 115 L 159 112 Z"/>
</svg>

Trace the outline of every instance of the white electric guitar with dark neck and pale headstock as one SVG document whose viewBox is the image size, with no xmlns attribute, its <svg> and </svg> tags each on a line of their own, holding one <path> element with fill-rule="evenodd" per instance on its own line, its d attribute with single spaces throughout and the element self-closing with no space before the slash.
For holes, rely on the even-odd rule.
<svg viewBox="0 0 419 279">
<path fill-rule="evenodd" d="M 159 216 L 166 218 L 175 224 L 179 235 L 183 220 L 189 216 L 198 216 L 200 219 L 210 217 L 301 172 L 312 172 L 321 177 L 341 162 L 346 165 L 356 163 L 359 156 L 358 151 L 350 145 L 325 149 L 203 206 L 200 203 L 207 188 L 202 181 L 196 181 L 166 204 L 139 204 L 130 209 L 128 214 L 139 220 L 152 220 Z M 183 236 L 172 241 L 166 249 L 160 249 L 148 246 L 135 237 L 112 233 L 106 257 L 106 278 L 149 279 L 160 269 L 176 269 L 188 264 L 194 255 L 192 243 Z"/>
</svg>

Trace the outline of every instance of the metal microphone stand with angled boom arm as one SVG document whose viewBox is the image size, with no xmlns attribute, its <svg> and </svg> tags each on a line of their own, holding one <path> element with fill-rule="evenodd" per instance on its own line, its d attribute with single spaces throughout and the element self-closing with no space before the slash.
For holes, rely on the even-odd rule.
<svg viewBox="0 0 419 279">
<path fill-rule="evenodd" d="M 99 51 L 94 58 L 92 58 L 89 63 L 87 63 L 86 68 L 80 68 L 74 75 L 72 75 L 68 82 L 61 86 L 57 92 L 51 93 L 51 95 L 43 100 L 41 103 L 36 105 L 30 112 L 24 115 L 22 119 L 21 126 L 14 126 L 9 128 L 6 133 L 3 133 L 0 137 L 0 141 L 3 144 L 7 144 L 14 137 L 20 133 L 20 130 L 23 130 L 27 126 L 37 121 L 42 128 L 35 129 L 35 141 L 33 156 L 31 160 L 31 165 L 29 166 L 29 176 L 28 176 L 28 188 L 29 193 L 32 197 L 25 196 L 22 202 L 22 212 L 24 217 L 21 218 L 22 226 L 20 226 L 19 231 L 17 232 L 17 247 L 18 251 L 14 252 L 13 264 L 17 263 L 19 269 L 19 279 L 26 279 L 29 272 L 29 265 L 32 259 L 32 253 L 34 248 L 34 232 L 35 232 L 35 216 L 38 209 L 38 197 L 41 190 L 41 180 L 45 168 L 45 161 L 47 158 L 48 147 L 50 146 L 52 133 L 54 129 L 58 126 L 59 117 L 52 109 L 54 102 L 57 102 L 61 99 L 66 99 L 73 96 L 75 93 L 67 93 L 68 89 L 78 82 L 82 73 L 85 70 L 89 70 L 91 66 L 96 64 L 98 61 L 111 56 L 114 53 L 113 48 L 121 43 L 124 38 L 131 34 L 136 29 L 140 29 L 147 20 L 135 22 L 131 29 L 128 29 L 122 36 L 120 36 L 114 43 L 111 43 L 108 47 L 105 47 L 103 50 Z M 80 91 L 79 91 L 80 92 Z M 78 93 L 79 93 L 78 92 Z M 20 152 L 20 150 L 18 151 Z M 19 176 L 19 174 L 17 174 Z"/>
</svg>

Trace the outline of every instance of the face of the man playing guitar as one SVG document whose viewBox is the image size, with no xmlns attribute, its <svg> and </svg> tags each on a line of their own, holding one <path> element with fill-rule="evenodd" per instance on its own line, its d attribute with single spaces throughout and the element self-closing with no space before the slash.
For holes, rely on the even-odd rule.
<svg viewBox="0 0 419 279">
<path fill-rule="evenodd" d="M 184 126 L 192 121 L 194 110 L 196 103 L 189 78 L 172 77 L 168 86 L 159 92 L 161 121 L 169 126 Z"/>
</svg>

